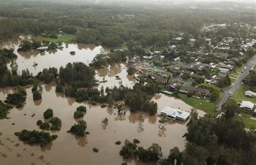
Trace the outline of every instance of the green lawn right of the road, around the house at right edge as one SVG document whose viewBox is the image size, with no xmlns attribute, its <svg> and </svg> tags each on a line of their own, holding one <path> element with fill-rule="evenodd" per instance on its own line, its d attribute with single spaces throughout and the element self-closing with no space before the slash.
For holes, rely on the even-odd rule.
<svg viewBox="0 0 256 165">
<path fill-rule="evenodd" d="M 246 97 L 244 94 L 245 94 L 245 91 L 249 91 L 250 89 L 250 86 L 248 85 L 245 85 L 245 84 L 241 84 L 238 88 L 237 91 L 235 91 L 235 93 L 233 94 L 232 98 L 237 101 L 237 102 L 240 102 L 240 101 L 251 101 L 253 102 L 254 104 L 256 104 L 256 98 L 248 98 Z"/>
</svg>

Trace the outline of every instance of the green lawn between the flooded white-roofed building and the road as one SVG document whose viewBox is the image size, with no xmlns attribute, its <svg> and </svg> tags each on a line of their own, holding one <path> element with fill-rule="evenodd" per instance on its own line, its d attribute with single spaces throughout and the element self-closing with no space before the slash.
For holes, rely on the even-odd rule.
<svg viewBox="0 0 256 165">
<path fill-rule="evenodd" d="M 215 112 L 215 104 L 213 102 L 208 102 L 204 99 L 196 99 L 196 98 L 189 98 L 186 94 L 179 93 L 180 99 L 186 102 L 186 104 L 200 109 L 207 113 L 210 116 L 216 116 L 217 113 Z"/>
</svg>

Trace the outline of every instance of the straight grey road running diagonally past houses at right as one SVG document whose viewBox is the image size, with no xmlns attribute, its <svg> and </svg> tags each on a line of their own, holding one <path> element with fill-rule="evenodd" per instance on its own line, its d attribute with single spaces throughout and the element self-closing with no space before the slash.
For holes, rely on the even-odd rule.
<svg viewBox="0 0 256 165">
<path fill-rule="evenodd" d="M 221 105 L 224 104 L 224 102 L 226 102 L 228 100 L 228 97 L 230 97 L 230 95 L 233 95 L 235 91 L 237 91 L 238 87 L 240 86 L 240 84 L 242 83 L 242 80 L 249 74 L 249 72 L 251 71 L 251 68 L 256 64 L 256 56 L 254 56 L 252 58 L 252 60 L 248 61 L 248 65 L 246 66 L 246 70 L 244 72 L 242 72 L 239 77 L 237 78 L 237 80 L 234 81 L 233 85 L 224 92 L 223 97 L 220 98 L 219 102 L 217 103 L 216 107 L 218 107 L 218 111 L 221 110 Z M 231 94 L 228 94 L 230 93 Z"/>
</svg>

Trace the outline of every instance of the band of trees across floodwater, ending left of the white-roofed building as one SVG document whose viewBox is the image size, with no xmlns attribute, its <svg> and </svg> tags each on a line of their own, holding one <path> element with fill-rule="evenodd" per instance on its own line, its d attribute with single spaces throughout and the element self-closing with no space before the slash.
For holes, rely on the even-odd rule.
<svg viewBox="0 0 256 165">
<path fill-rule="evenodd" d="M 79 89 L 70 85 L 63 90 L 62 86 L 57 86 L 56 92 L 61 91 L 64 91 L 64 94 L 68 97 L 76 98 L 78 102 L 89 100 L 91 104 L 104 103 L 113 106 L 115 101 L 123 100 L 125 105 L 130 107 L 131 112 L 141 110 L 149 112 L 150 115 L 157 113 L 157 103 L 150 101 L 157 92 L 155 84 L 136 84 L 132 89 L 124 86 L 114 86 L 113 88 L 107 87 L 105 91 L 103 87 L 100 90 L 97 88 Z"/>
</svg>

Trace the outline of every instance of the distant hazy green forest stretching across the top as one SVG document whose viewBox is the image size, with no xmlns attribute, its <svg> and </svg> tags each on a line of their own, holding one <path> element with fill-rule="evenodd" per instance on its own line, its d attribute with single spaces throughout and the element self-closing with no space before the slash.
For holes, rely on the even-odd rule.
<svg viewBox="0 0 256 165">
<path fill-rule="evenodd" d="M 63 31 L 77 35 L 83 43 L 99 42 L 120 46 L 133 41 L 136 45 L 165 45 L 179 32 L 197 38 L 205 23 L 234 23 L 244 18 L 252 22 L 254 12 L 209 12 L 205 10 L 156 8 L 141 6 L 68 5 L 59 3 L 5 3 L 0 8 L 0 39 L 19 33 L 40 35 L 47 31 Z M 24 6 L 29 6 L 25 8 Z M 191 14 L 191 11 L 193 14 Z M 246 19 L 245 19 L 246 16 Z M 248 18 L 248 19 L 247 19 Z"/>
</svg>

